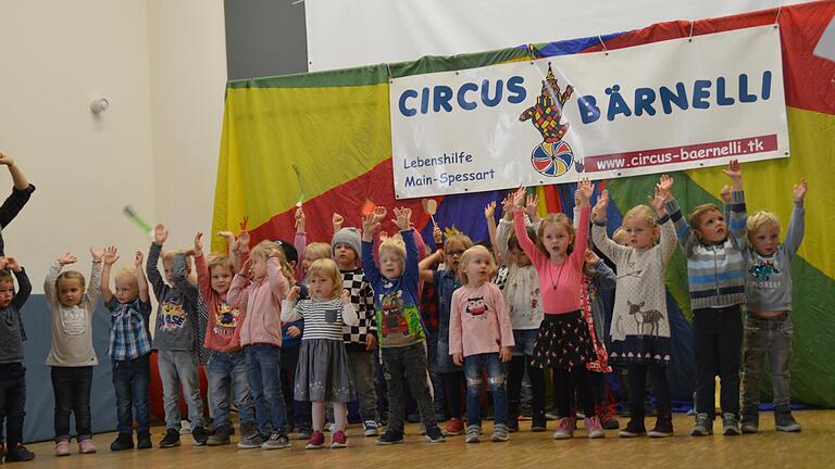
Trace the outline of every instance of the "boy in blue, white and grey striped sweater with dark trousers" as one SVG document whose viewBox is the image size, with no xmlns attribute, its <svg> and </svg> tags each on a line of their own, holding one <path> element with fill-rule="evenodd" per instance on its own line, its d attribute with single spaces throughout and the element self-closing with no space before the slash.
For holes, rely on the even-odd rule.
<svg viewBox="0 0 835 469">
<path fill-rule="evenodd" d="M 682 216 L 674 198 L 665 204 L 678 243 L 687 255 L 687 280 L 693 308 L 696 353 L 696 424 L 694 436 L 713 433 L 716 372 L 722 380 L 722 433 L 739 431 L 739 348 L 743 343 L 740 305 L 745 304 L 746 208 L 743 172 L 732 160 L 724 170 L 733 181 L 730 219 L 714 204 L 702 204 Z M 634 400 L 634 398 L 633 398 Z"/>
</svg>

